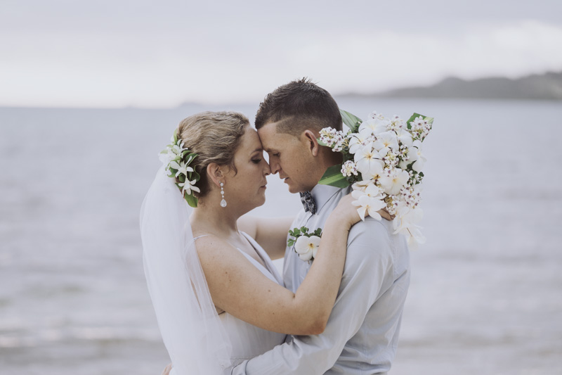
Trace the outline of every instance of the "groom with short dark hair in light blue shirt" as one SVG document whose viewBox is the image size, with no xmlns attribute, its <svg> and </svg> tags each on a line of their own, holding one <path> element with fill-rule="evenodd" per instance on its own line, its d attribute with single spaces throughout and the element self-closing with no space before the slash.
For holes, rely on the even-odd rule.
<svg viewBox="0 0 562 375">
<path fill-rule="evenodd" d="M 341 163 L 339 153 L 316 140 L 323 127 L 341 130 L 334 98 L 309 80 L 290 82 L 266 96 L 255 125 L 271 172 L 279 173 L 291 193 L 301 193 L 306 210 L 292 228 L 322 228 L 351 191 L 318 184 L 327 167 Z M 287 288 L 295 292 L 309 268 L 292 248 L 285 250 Z M 392 222 L 367 217 L 349 232 L 344 275 L 325 331 L 288 336 L 286 343 L 242 362 L 232 374 L 386 374 L 396 355 L 409 285 L 405 239 L 393 234 Z"/>
</svg>

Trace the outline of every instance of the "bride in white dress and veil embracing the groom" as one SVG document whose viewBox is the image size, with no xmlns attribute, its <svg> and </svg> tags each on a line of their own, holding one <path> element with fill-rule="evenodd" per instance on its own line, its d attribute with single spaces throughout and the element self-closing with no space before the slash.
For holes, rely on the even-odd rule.
<svg viewBox="0 0 562 375">
<path fill-rule="evenodd" d="M 286 334 L 322 333 L 348 231 L 360 220 L 351 196 L 329 216 L 313 265 L 292 293 L 271 262 L 285 253 L 291 220 L 242 217 L 265 203 L 270 174 L 248 119 L 234 112 L 187 117 L 162 156 L 141 208 L 141 238 L 171 373 L 229 373 Z"/>
</svg>

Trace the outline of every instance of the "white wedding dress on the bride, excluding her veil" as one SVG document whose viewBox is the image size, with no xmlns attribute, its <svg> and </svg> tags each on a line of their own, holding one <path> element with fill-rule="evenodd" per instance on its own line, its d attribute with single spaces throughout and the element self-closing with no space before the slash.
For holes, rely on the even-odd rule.
<svg viewBox="0 0 562 375">
<path fill-rule="evenodd" d="M 266 267 L 263 267 L 261 263 L 257 262 L 254 258 L 251 258 L 250 255 L 238 249 L 240 250 L 240 253 L 244 254 L 247 260 L 249 260 L 252 265 L 256 266 L 257 269 L 266 275 L 268 279 L 282 286 L 283 280 L 265 250 L 263 250 L 263 248 L 261 248 L 261 246 L 259 246 L 259 244 L 248 234 L 245 234 L 244 232 L 240 233 L 242 233 L 248 239 L 249 243 L 251 243 L 251 246 L 256 249 L 256 253 L 258 253 Z M 228 312 L 223 312 L 222 314 L 219 314 L 218 317 L 221 319 L 221 322 L 226 329 L 226 333 L 230 338 L 230 343 L 232 344 L 230 360 L 233 366 L 240 364 L 244 360 L 249 360 L 257 355 L 261 355 L 264 352 L 273 349 L 275 345 L 280 345 L 285 341 L 286 335 L 284 333 L 266 331 L 265 329 L 261 329 L 244 322 L 243 320 L 237 319 L 236 317 L 233 317 L 233 315 L 228 314 Z"/>
</svg>

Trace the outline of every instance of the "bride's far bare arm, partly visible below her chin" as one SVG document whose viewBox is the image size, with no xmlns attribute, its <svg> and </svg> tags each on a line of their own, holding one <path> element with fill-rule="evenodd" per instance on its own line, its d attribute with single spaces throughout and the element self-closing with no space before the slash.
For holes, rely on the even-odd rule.
<svg viewBox="0 0 562 375">
<path fill-rule="evenodd" d="M 266 250 L 269 258 L 283 258 L 287 246 L 287 234 L 294 217 L 264 218 L 244 215 L 238 219 L 238 229 L 249 234 L 251 238 Z"/>
</svg>

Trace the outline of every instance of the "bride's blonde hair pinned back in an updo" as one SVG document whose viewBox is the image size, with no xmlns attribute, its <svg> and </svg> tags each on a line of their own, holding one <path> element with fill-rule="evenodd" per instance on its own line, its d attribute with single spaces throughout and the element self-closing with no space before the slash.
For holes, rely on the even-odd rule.
<svg viewBox="0 0 562 375">
<path fill-rule="evenodd" d="M 195 193 L 197 197 L 209 193 L 209 164 L 228 165 L 237 172 L 234 154 L 249 124 L 248 118 L 242 113 L 230 111 L 196 113 L 180 122 L 178 138 L 192 153 L 197 154 L 197 158 L 190 163 L 190 167 L 201 176 L 197 182 L 200 189 L 200 193 Z"/>
</svg>

